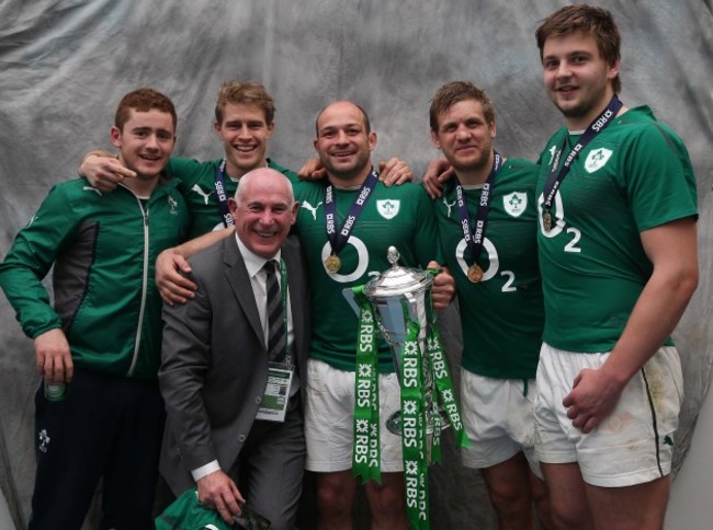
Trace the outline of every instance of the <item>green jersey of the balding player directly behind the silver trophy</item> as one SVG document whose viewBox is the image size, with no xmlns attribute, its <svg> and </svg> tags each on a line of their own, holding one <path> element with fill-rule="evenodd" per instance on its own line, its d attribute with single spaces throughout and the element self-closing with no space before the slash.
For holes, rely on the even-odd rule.
<svg viewBox="0 0 713 530">
<path fill-rule="evenodd" d="M 431 260 L 440 263 L 438 233 L 431 200 L 421 186 L 386 187 L 378 182 L 339 256 L 338 273 L 327 273 L 324 261 L 330 253 L 325 229 L 325 191 L 328 182 L 294 185 L 299 200 L 296 231 L 309 267 L 313 338 L 310 356 L 340 369 L 354 371 L 359 320 L 342 295 L 344 288 L 364 285 L 391 267 L 388 247 L 400 253 L 399 265 L 423 268 Z M 335 188 L 337 226 L 359 195 L 359 189 Z M 381 372 L 393 372 L 388 346 L 380 342 Z"/>
</svg>

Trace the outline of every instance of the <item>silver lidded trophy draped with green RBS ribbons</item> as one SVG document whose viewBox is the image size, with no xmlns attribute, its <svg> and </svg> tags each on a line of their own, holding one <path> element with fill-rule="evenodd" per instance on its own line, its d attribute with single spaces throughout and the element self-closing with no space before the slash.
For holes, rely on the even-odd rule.
<svg viewBox="0 0 713 530">
<path fill-rule="evenodd" d="M 433 278 L 428 273 L 398 265 L 399 253 L 395 246 L 388 247 L 388 263 L 392 268 L 371 279 L 364 286 L 364 295 L 374 308 L 378 329 L 392 348 L 394 366 L 400 378 L 401 353 L 407 334 L 407 319 L 419 325 L 418 344 L 423 359 L 423 389 L 426 392 L 427 433 L 433 433 L 433 391 L 434 383 L 430 356 L 426 347 L 426 336 L 430 321 L 430 299 L 428 297 Z M 448 422 L 442 422 L 445 427 Z M 400 411 L 396 411 L 386 422 L 388 430 L 401 435 Z"/>
</svg>

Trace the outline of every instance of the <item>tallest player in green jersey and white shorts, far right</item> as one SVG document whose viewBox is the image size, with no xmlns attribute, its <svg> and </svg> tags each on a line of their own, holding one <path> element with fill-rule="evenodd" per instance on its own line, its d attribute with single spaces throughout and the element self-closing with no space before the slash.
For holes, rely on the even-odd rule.
<svg viewBox="0 0 713 530">
<path fill-rule="evenodd" d="M 661 528 L 682 389 L 669 335 L 698 284 L 695 178 L 676 132 L 619 101 L 609 11 L 563 8 L 536 41 L 565 120 L 537 181 L 536 454 L 559 528 Z"/>
</svg>

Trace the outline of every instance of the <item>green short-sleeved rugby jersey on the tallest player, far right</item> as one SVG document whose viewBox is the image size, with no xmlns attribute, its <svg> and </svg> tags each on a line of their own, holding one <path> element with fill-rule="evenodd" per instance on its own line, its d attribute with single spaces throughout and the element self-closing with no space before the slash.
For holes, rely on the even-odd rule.
<svg viewBox="0 0 713 530">
<path fill-rule="evenodd" d="M 540 214 L 555 153 L 578 137 L 557 131 L 540 155 Z M 570 352 L 609 352 L 653 272 L 644 230 L 697 216 L 695 176 L 683 142 L 647 106 L 598 134 L 557 191 L 556 221 L 537 243 L 545 296 L 544 341 Z"/>
</svg>

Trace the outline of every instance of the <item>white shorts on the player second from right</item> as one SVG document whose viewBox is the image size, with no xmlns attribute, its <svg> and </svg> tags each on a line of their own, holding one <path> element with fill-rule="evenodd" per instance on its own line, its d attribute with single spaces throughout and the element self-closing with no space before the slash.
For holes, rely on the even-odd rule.
<svg viewBox="0 0 713 530">
<path fill-rule="evenodd" d="M 494 379 L 461 370 L 463 425 L 472 442 L 462 449 L 466 468 L 491 468 L 522 451 L 542 479 L 534 456 L 534 379 Z"/>
</svg>

